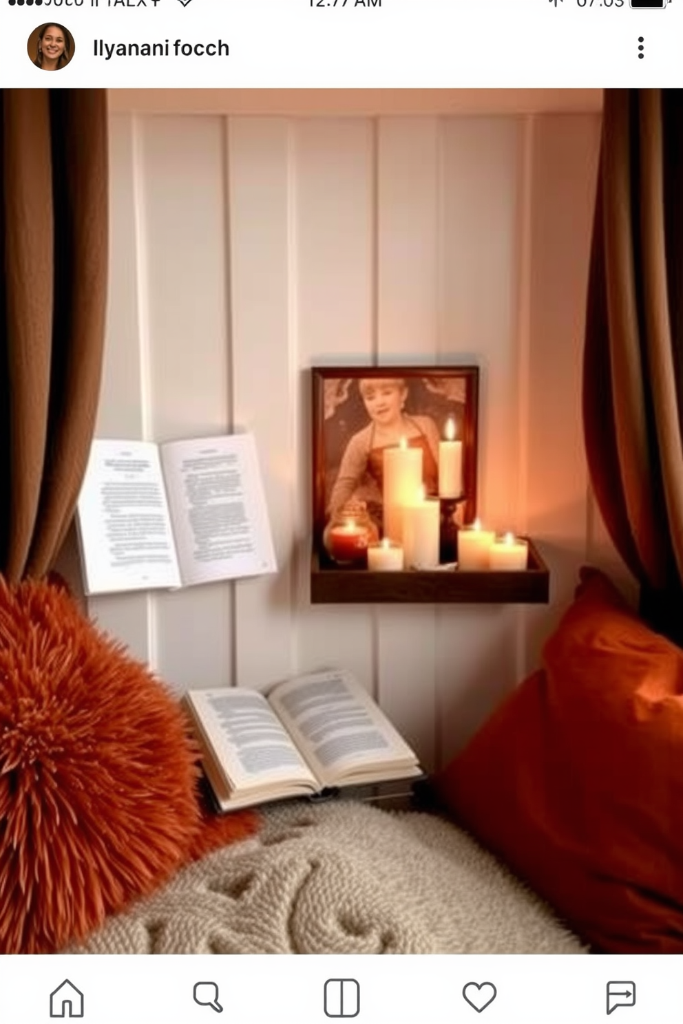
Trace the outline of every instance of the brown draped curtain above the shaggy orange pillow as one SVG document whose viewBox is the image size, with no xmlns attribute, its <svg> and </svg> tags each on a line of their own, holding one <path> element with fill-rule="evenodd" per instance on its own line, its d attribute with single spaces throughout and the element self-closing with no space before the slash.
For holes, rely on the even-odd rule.
<svg viewBox="0 0 683 1024">
<path fill-rule="evenodd" d="M 106 99 L 0 99 L 0 572 L 43 575 L 94 429 L 108 269 Z"/>
</svg>

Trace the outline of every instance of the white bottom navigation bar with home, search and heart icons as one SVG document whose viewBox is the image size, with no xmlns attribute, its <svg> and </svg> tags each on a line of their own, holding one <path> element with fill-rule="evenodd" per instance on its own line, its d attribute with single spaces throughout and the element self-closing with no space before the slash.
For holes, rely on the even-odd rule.
<svg viewBox="0 0 683 1024">
<path fill-rule="evenodd" d="M 680 1024 L 682 958 L 4 956 L 0 1021 Z"/>
</svg>

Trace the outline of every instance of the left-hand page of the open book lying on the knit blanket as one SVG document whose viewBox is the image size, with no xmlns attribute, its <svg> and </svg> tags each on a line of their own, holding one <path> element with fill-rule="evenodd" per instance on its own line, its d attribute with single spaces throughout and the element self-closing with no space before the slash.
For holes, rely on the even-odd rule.
<svg viewBox="0 0 683 1024">
<path fill-rule="evenodd" d="M 229 687 L 193 690 L 186 700 L 230 790 L 248 792 L 267 782 L 296 780 L 316 787 L 262 693 Z"/>
</svg>

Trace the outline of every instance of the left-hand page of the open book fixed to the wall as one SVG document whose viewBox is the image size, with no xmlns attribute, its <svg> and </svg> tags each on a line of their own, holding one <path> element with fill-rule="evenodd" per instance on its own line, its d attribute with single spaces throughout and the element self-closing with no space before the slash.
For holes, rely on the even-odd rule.
<svg viewBox="0 0 683 1024">
<path fill-rule="evenodd" d="M 159 451 L 93 440 L 77 505 L 88 594 L 180 584 Z"/>
</svg>

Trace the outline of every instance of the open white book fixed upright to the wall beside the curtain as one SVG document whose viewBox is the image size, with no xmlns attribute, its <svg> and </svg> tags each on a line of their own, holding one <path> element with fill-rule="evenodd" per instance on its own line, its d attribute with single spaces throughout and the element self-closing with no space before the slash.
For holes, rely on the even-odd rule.
<svg viewBox="0 0 683 1024">
<path fill-rule="evenodd" d="M 95 439 L 76 522 L 86 594 L 275 571 L 252 434 Z"/>
</svg>

